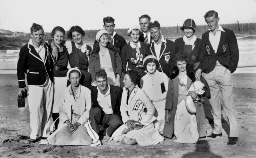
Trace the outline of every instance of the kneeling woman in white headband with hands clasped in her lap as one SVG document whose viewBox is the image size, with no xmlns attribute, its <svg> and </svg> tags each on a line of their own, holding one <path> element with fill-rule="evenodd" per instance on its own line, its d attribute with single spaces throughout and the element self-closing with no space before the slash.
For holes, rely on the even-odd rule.
<svg viewBox="0 0 256 158">
<path fill-rule="evenodd" d="M 77 68 L 68 70 L 67 77 L 71 84 L 60 95 L 60 124 L 48 137 L 49 144 L 90 145 L 98 141 L 99 136 L 92 131 L 90 125 L 88 128 L 87 121 L 92 107 L 91 90 L 79 83 L 81 75 Z"/>
</svg>

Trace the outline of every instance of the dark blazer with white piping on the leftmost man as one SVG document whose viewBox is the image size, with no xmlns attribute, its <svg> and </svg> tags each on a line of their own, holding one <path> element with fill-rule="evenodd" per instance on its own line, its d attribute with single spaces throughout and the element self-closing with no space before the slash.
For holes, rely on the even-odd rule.
<svg viewBox="0 0 256 158">
<path fill-rule="evenodd" d="M 53 82 L 53 70 L 52 65 L 54 60 L 49 52 L 50 46 L 44 43 L 45 57 L 41 59 L 35 48 L 28 43 L 21 47 L 20 57 L 17 64 L 17 76 L 19 88 L 26 87 L 25 85 L 25 73 L 29 70 L 27 75 L 28 86 L 42 86 L 46 82 L 46 76 L 48 75 L 51 82 Z"/>
</svg>

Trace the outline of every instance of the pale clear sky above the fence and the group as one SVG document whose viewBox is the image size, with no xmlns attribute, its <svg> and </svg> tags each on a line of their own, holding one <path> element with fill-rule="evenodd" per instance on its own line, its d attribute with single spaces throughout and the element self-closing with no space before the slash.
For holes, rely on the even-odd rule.
<svg viewBox="0 0 256 158">
<path fill-rule="evenodd" d="M 161 26 L 182 25 L 187 18 L 205 25 L 203 16 L 210 10 L 218 12 L 219 24 L 256 22 L 256 0 L 0 0 L 0 29 L 30 32 L 33 22 L 44 32 L 73 25 L 103 29 L 106 16 L 115 19 L 116 28 L 129 28 L 139 25 L 143 14 Z"/>
</svg>

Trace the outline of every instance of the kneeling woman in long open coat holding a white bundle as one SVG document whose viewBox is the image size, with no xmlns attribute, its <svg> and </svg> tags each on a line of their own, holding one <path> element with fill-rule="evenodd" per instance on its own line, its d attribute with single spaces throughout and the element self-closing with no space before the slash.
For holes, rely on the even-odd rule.
<svg viewBox="0 0 256 158">
<path fill-rule="evenodd" d="M 198 94 L 191 87 L 201 84 L 203 88 L 204 84 L 196 81 L 193 64 L 189 62 L 188 56 L 177 54 L 174 63 L 174 73 L 170 76 L 166 96 L 163 135 L 172 138 L 174 134 L 177 138 L 174 141 L 178 143 L 196 143 L 198 132 L 203 130 L 197 119 L 204 116 L 198 111 L 198 103 L 193 101 L 195 111 L 190 111 L 187 99 L 191 96 L 194 101 L 197 100 Z"/>
</svg>

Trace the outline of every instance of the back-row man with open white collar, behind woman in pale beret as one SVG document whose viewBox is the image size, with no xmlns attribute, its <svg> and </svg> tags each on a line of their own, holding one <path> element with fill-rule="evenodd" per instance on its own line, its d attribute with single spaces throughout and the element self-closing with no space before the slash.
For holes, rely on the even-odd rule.
<svg viewBox="0 0 256 158">
<path fill-rule="evenodd" d="M 115 19 L 112 17 L 104 17 L 103 18 L 103 28 L 108 31 L 108 34 L 110 35 L 111 39 L 109 40 L 110 43 L 112 43 L 115 47 L 117 47 L 119 50 L 119 55 L 122 51 L 122 48 L 124 47 L 124 45 L 126 45 L 126 41 L 124 39 L 124 37 L 118 35 L 115 31 L 114 28 L 116 26 L 115 24 Z M 97 41 L 94 41 L 93 46 L 97 43 Z"/>
</svg>

